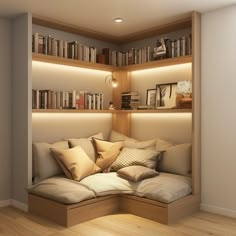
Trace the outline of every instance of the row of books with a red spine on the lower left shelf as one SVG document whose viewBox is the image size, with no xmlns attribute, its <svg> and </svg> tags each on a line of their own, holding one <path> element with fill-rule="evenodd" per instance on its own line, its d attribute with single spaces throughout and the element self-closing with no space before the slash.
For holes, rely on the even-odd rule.
<svg viewBox="0 0 236 236">
<path fill-rule="evenodd" d="M 103 109 L 103 94 L 87 91 L 32 90 L 32 109 Z"/>
</svg>

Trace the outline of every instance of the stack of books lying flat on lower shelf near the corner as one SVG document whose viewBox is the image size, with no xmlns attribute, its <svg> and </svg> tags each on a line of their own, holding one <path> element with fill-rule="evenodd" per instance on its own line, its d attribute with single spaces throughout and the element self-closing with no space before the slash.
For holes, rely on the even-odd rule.
<svg viewBox="0 0 236 236">
<path fill-rule="evenodd" d="M 128 91 L 121 94 L 121 109 L 134 110 L 140 105 L 140 95 L 137 91 Z"/>
</svg>

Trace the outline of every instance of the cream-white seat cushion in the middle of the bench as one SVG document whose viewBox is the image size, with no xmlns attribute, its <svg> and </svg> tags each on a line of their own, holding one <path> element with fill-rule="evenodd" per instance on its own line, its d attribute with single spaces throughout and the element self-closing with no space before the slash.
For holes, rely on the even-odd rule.
<svg viewBox="0 0 236 236">
<path fill-rule="evenodd" d="M 96 196 L 132 194 L 137 185 L 135 182 L 118 177 L 116 172 L 91 175 L 81 180 L 80 183 L 92 189 Z"/>
</svg>

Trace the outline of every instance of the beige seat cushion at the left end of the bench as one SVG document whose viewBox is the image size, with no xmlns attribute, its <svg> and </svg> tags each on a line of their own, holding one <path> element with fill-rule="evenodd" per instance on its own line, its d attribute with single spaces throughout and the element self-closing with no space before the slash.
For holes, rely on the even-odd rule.
<svg viewBox="0 0 236 236">
<path fill-rule="evenodd" d="M 74 204 L 96 197 L 85 185 L 60 176 L 43 180 L 30 186 L 27 191 L 64 204 Z"/>
</svg>

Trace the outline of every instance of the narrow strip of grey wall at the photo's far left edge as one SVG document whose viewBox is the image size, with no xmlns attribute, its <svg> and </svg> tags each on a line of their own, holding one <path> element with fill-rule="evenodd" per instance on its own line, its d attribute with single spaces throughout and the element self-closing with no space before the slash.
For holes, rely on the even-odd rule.
<svg viewBox="0 0 236 236">
<path fill-rule="evenodd" d="M 0 19 L 0 201 L 11 196 L 11 22 Z"/>
</svg>

